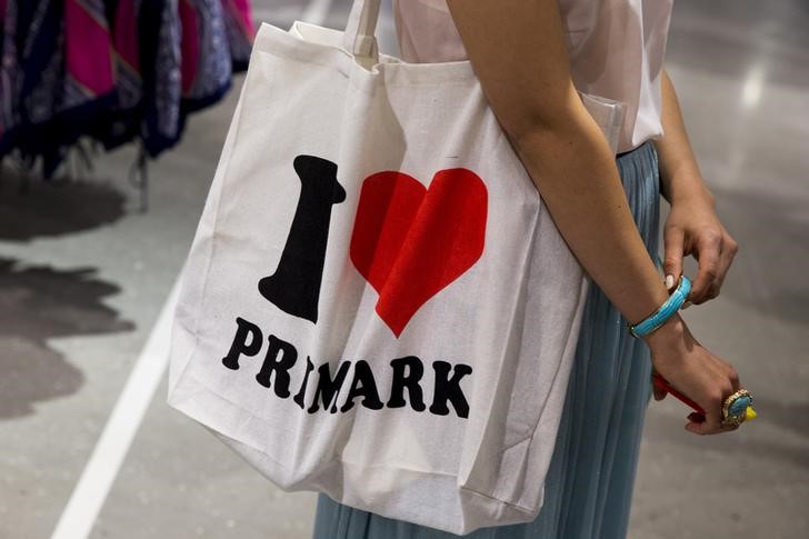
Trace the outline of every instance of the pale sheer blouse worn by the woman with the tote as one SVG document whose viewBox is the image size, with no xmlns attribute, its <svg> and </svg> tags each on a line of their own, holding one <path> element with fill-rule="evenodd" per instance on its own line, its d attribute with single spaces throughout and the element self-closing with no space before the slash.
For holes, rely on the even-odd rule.
<svg viewBox="0 0 809 539">
<path fill-rule="evenodd" d="M 618 151 L 659 138 L 666 38 L 673 0 L 559 0 L 573 83 L 626 106 Z M 402 59 L 467 58 L 445 0 L 393 0 Z"/>
</svg>

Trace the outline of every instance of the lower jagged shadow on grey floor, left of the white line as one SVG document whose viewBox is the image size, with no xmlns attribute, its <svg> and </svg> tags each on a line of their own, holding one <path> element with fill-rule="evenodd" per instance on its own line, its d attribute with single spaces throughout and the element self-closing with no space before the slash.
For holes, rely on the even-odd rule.
<svg viewBox="0 0 809 539">
<path fill-rule="evenodd" d="M 0 258 L 0 420 L 33 413 L 37 402 L 79 390 L 82 372 L 48 339 L 132 330 L 102 302 L 119 291 L 92 269 L 23 267 Z"/>
</svg>

